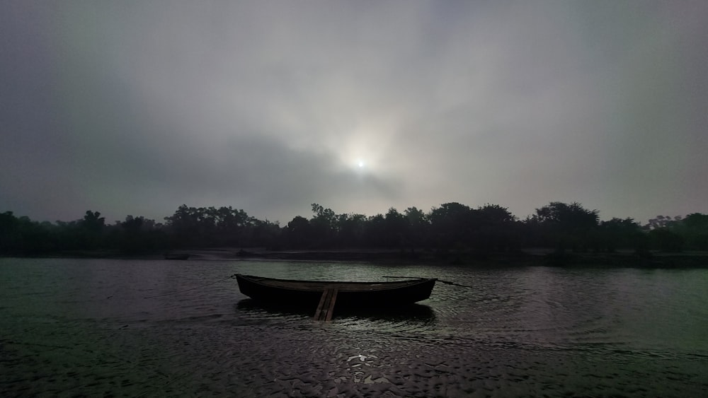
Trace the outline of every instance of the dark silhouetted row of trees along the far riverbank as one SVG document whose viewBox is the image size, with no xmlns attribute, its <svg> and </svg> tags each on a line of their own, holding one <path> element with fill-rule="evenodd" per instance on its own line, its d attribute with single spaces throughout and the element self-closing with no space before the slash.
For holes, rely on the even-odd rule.
<svg viewBox="0 0 708 398">
<path fill-rule="evenodd" d="M 551 202 L 521 220 L 503 206 L 477 208 L 449 202 L 430 211 L 393 207 L 385 214 L 337 214 L 312 204 L 310 218 L 285 226 L 229 207 L 182 205 L 159 223 L 143 216 L 105 223 L 98 211 L 76 221 L 32 221 L 0 213 L 0 254 L 33 255 L 110 250 L 125 254 L 206 247 L 265 247 L 270 250 L 377 248 L 404 251 L 465 251 L 484 255 L 529 247 L 561 252 L 708 250 L 708 215 L 657 216 L 644 226 L 632 218 L 600 221 L 597 210 Z"/>
</svg>

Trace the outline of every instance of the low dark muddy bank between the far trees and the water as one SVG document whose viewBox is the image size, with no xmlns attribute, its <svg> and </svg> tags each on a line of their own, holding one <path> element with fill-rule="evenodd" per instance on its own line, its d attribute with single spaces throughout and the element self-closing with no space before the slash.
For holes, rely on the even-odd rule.
<svg viewBox="0 0 708 398">
<path fill-rule="evenodd" d="M 108 250 L 65 251 L 39 256 L 59 258 L 110 258 L 164 260 L 180 257 L 190 260 L 289 260 L 315 262 L 382 262 L 452 264 L 461 266 L 600 266 L 641 268 L 708 268 L 708 252 L 648 252 L 637 255 L 631 251 L 614 253 L 563 252 L 545 249 L 527 249 L 517 252 L 434 252 L 429 250 L 265 250 L 261 248 L 194 248 L 170 252 L 124 254 Z M 172 259 L 171 261 L 179 261 Z"/>
</svg>

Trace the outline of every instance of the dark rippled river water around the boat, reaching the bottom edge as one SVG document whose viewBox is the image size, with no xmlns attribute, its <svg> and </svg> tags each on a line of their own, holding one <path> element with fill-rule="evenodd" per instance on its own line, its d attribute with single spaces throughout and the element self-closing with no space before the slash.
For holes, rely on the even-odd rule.
<svg viewBox="0 0 708 398">
<path fill-rule="evenodd" d="M 247 300 L 234 273 L 472 287 L 315 322 Z M 0 392 L 700 397 L 707 293 L 708 269 L 0 259 Z"/>
</svg>

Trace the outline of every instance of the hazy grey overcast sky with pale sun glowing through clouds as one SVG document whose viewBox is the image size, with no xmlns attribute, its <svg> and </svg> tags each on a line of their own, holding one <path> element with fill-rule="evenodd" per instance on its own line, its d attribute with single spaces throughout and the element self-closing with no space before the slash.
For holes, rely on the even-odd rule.
<svg viewBox="0 0 708 398">
<path fill-rule="evenodd" d="M 708 213 L 708 1 L 0 0 L 0 212 Z"/>
</svg>

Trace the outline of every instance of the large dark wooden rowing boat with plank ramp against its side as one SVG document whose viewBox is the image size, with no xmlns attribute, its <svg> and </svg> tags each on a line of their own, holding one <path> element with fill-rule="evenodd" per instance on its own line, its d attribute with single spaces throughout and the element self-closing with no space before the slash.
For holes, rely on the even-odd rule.
<svg viewBox="0 0 708 398">
<path fill-rule="evenodd" d="M 404 305 L 426 300 L 438 279 L 413 279 L 392 282 L 333 282 L 271 279 L 236 274 L 241 293 L 264 303 L 315 305 L 331 318 L 334 303 L 350 308 L 376 308 Z"/>
</svg>

